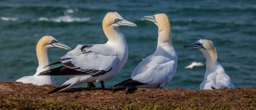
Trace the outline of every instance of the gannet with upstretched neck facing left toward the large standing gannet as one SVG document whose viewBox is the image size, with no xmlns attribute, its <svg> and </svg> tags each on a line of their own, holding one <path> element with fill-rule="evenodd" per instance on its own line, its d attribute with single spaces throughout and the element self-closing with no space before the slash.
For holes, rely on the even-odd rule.
<svg viewBox="0 0 256 110">
<path fill-rule="evenodd" d="M 177 69 L 177 53 L 171 40 L 171 24 L 165 14 L 143 17 L 158 26 L 158 44 L 154 54 L 142 60 L 127 79 L 113 87 L 130 93 L 136 87 L 163 88 L 174 77 Z"/>
</svg>

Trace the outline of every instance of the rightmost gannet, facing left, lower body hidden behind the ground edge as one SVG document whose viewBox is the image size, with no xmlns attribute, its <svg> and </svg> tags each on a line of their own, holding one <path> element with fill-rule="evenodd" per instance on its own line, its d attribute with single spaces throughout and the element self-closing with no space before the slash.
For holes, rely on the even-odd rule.
<svg viewBox="0 0 256 110">
<path fill-rule="evenodd" d="M 235 88 L 230 77 L 226 74 L 221 64 L 217 61 L 216 48 L 213 42 L 206 39 L 200 39 L 194 44 L 186 45 L 183 48 L 193 48 L 201 51 L 206 58 L 206 72 L 204 81 L 200 84 L 199 89 L 220 89 Z"/>
</svg>

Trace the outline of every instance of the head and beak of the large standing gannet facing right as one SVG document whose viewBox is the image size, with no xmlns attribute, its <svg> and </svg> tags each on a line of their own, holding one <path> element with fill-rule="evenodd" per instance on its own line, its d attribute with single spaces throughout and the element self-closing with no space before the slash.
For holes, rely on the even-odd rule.
<svg viewBox="0 0 256 110">
<path fill-rule="evenodd" d="M 121 17 L 117 12 L 108 12 L 102 21 L 102 26 L 118 27 L 121 25 L 137 27 L 135 23 L 123 19 L 123 17 Z"/>
</svg>

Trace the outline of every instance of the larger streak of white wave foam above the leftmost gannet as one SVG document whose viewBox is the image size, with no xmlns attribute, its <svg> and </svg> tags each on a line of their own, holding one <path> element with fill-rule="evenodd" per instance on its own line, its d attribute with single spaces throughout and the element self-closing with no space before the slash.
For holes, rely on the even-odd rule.
<svg viewBox="0 0 256 110">
<path fill-rule="evenodd" d="M 46 17 L 41 17 L 38 19 L 39 21 L 54 21 L 54 22 L 85 22 L 85 21 L 89 21 L 90 18 L 77 18 L 77 17 L 72 17 L 72 16 L 61 16 L 61 17 L 57 17 L 57 18 L 46 18 Z"/>
</svg>

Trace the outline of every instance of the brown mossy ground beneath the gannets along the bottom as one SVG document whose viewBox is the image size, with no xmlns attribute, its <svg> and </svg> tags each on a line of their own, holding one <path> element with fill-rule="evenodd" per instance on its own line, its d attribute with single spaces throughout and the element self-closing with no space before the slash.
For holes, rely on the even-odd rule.
<svg viewBox="0 0 256 110">
<path fill-rule="evenodd" d="M 135 93 L 70 88 L 47 94 L 52 85 L 0 82 L 0 109 L 14 110 L 256 110 L 256 88 L 145 89 Z"/>
</svg>

